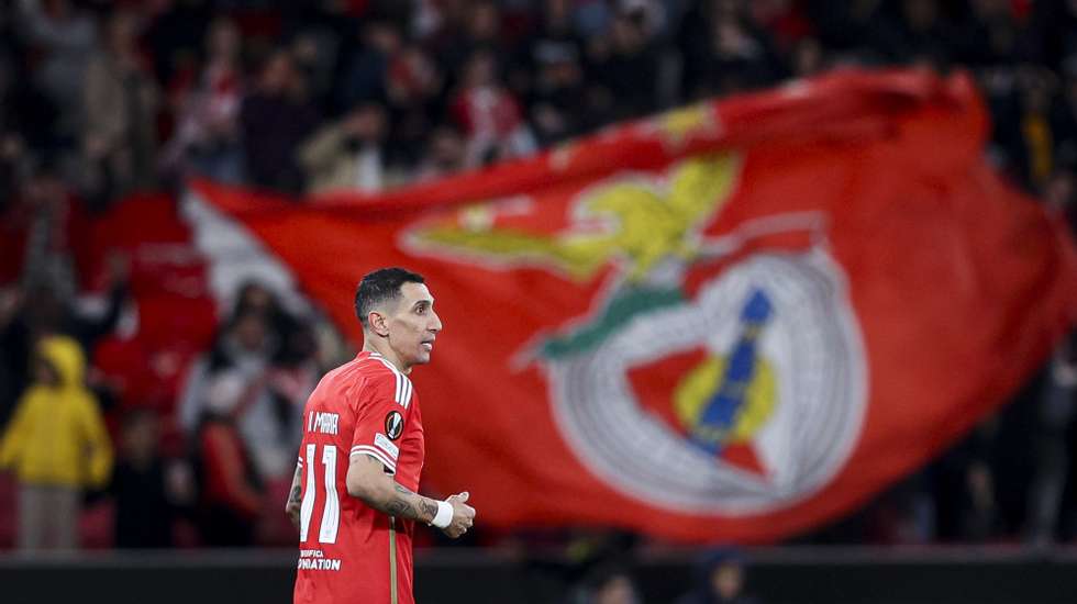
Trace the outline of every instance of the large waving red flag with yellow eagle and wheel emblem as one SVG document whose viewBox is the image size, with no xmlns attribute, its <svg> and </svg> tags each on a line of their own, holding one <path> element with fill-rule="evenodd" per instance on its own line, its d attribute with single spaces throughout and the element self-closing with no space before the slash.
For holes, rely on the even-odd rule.
<svg viewBox="0 0 1077 604">
<path fill-rule="evenodd" d="M 197 190 L 356 343 L 363 273 L 426 276 L 426 478 L 481 522 L 767 541 L 922 465 L 1074 325 L 1073 242 L 987 127 L 967 77 L 845 72 L 377 198 Z"/>
</svg>

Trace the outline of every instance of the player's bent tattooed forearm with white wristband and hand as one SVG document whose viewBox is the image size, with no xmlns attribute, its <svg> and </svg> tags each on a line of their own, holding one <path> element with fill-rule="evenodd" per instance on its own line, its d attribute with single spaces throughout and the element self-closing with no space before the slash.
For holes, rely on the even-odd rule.
<svg viewBox="0 0 1077 604">
<path fill-rule="evenodd" d="M 424 497 L 392 480 L 382 462 L 369 455 L 352 455 L 345 480 L 348 494 L 370 507 L 391 516 L 438 526 L 453 538 L 467 532 L 475 519 L 475 510 L 465 503 L 467 493 L 453 495 L 444 502 Z"/>
</svg>

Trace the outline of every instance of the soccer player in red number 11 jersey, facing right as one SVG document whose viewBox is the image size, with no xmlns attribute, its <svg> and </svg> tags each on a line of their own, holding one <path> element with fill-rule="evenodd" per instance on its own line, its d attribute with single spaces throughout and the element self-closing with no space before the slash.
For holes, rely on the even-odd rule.
<svg viewBox="0 0 1077 604">
<path fill-rule="evenodd" d="M 449 537 L 471 526 L 467 492 L 415 493 L 423 466 L 419 398 L 408 376 L 442 329 L 423 278 L 386 268 L 355 293 L 363 351 L 319 382 L 285 511 L 299 527 L 295 602 L 411 604 L 415 521 Z"/>
</svg>

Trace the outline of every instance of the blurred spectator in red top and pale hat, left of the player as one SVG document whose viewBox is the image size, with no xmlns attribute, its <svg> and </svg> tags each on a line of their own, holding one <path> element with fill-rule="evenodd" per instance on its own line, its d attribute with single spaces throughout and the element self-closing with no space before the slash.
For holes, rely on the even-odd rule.
<svg viewBox="0 0 1077 604">
<path fill-rule="evenodd" d="M 207 545 L 254 544 L 262 504 L 262 481 L 236 426 L 249 383 L 221 371 L 203 391 L 204 411 L 198 430 L 201 460 L 201 528 Z"/>
</svg>

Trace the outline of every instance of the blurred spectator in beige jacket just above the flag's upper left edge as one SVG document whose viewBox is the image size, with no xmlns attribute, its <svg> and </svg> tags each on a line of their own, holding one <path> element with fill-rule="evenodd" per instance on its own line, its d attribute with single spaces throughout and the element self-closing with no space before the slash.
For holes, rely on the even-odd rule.
<svg viewBox="0 0 1077 604">
<path fill-rule="evenodd" d="M 307 191 L 319 193 L 351 189 L 374 193 L 393 178 L 386 165 L 385 139 L 388 130 L 385 108 L 364 103 L 343 120 L 322 127 L 299 149 L 307 169 Z"/>
</svg>

